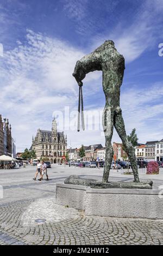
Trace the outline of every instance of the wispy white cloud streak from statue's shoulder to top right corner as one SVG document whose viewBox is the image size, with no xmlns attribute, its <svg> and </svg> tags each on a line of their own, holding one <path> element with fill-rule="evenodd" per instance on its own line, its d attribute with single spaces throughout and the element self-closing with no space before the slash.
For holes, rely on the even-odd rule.
<svg viewBox="0 0 163 256">
<path fill-rule="evenodd" d="M 133 21 L 124 25 L 120 22 L 109 33 L 98 35 L 93 39 L 92 49 L 105 40 L 113 40 L 116 49 L 124 56 L 126 63 L 134 61 L 144 51 L 151 49 L 162 31 L 162 1 L 145 1 Z"/>
</svg>

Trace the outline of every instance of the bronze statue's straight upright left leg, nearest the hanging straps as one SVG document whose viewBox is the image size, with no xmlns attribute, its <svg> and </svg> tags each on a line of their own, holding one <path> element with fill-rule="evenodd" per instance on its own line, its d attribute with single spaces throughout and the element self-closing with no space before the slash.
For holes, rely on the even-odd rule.
<svg viewBox="0 0 163 256">
<path fill-rule="evenodd" d="M 104 172 L 103 172 L 103 182 L 107 183 L 109 178 L 109 171 L 113 157 L 113 149 L 111 146 L 111 138 L 114 128 L 114 112 L 111 110 L 110 107 L 105 106 L 103 111 L 103 129 L 105 133 L 105 147 L 106 147 L 106 154 L 105 154 L 105 165 L 104 165 Z"/>
</svg>

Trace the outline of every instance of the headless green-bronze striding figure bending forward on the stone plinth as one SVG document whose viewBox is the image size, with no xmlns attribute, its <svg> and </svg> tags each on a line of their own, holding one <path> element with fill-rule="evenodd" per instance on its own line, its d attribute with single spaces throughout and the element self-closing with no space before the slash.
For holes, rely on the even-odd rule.
<svg viewBox="0 0 163 256">
<path fill-rule="evenodd" d="M 73 73 L 78 85 L 82 86 L 82 80 L 85 78 L 87 73 L 95 70 L 102 70 L 103 72 L 103 90 L 106 98 L 105 108 L 103 111 L 103 129 L 106 146 L 103 173 L 103 182 L 105 183 L 108 182 L 112 157 L 114 155 L 111 145 L 114 127 L 126 148 L 131 168 L 133 169 L 134 181 L 139 182 L 135 150 L 127 139 L 122 110 L 120 108 L 120 87 L 122 85 L 124 69 L 124 57 L 117 52 L 114 42 L 107 40 L 95 51 L 84 56 L 80 61 L 77 61 Z"/>
</svg>

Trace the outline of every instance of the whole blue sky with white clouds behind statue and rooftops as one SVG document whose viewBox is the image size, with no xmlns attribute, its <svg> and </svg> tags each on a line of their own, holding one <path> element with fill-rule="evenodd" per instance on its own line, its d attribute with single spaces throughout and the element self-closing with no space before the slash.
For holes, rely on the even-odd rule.
<svg viewBox="0 0 163 256">
<path fill-rule="evenodd" d="M 162 0 L 0 0 L 0 114 L 9 118 L 17 151 L 30 147 L 37 128 L 51 129 L 55 111 L 77 110 L 76 61 L 108 39 L 126 59 L 127 134 L 136 128 L 139 142 L 162 139 L 162 13 Z M 87 75 L 83 94 L 86 111 L 103 110 L 101 72 Z M 101 130 L 65 133 L 72 147 L 104 145 Z M 116 132 L 112 141 L 121 141 Z"/>
</svg>

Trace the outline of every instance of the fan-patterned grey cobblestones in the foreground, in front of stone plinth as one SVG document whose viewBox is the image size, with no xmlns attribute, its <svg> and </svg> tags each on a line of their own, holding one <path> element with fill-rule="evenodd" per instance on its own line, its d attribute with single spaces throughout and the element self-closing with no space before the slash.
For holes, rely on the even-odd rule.
<svg viewBox="0 0 163 256">
<path fill-rule="evenodd" d="M 45 218 L 37 224 L 35 219 Z M 54 197 L 0 206 L 0 245 L 162 245 L 163 221 L 85 217 Z"/>
</svg>

